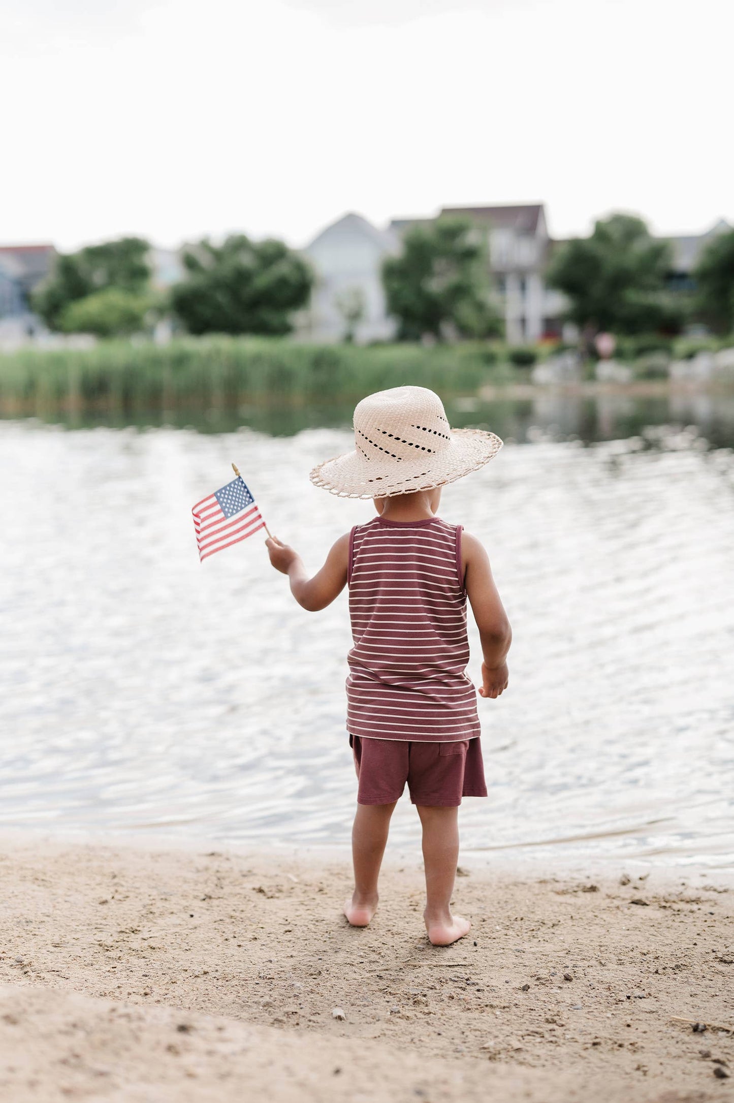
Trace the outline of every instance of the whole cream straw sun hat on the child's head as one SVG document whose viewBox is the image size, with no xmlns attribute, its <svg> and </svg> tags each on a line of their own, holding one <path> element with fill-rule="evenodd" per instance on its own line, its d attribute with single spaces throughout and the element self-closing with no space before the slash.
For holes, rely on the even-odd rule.
<svg viewBox="0 0 734 1103">
<path fill-rule="evenodd" d="M 476 471 L 503 442 L 482 429 L 452 429 L 427 387 L 378 390 L 354 411 L 354 452 L 320 463 L 311 482 L 342 497 L 432 490 Z"/>
</svg>

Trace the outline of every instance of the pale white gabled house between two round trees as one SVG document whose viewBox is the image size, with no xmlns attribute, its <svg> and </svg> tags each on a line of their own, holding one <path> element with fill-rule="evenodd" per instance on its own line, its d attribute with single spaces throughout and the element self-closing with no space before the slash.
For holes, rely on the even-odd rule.
<svg viewBox="0 0 734 1103">
<path fill-rule="evenodd" d="M 345 214 L 314 237 L 303 250 L 316 281 L 309 308 L 296 323 L 296 336 L 307 341 L 389 341 L 395 320 L 387 314 L 380 269 L 399 248 L 399 238 L 378 229 L 359 214 Z"/>
</svg>

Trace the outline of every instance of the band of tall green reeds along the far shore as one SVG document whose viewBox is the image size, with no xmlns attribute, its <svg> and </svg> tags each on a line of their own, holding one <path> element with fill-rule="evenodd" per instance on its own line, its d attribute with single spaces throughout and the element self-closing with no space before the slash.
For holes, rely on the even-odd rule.
<svg viewBox="0 0 734 1103">
<path fill-rule="evenodd" d="M 517 377 L 495 360 L 486 344 L 363 347 L 250 338 L 28 350 L 0 356 L 0 411 L 134 415 L 242 403 L 328 404 L 401 384 L 472 393 Z"/>
</svg>

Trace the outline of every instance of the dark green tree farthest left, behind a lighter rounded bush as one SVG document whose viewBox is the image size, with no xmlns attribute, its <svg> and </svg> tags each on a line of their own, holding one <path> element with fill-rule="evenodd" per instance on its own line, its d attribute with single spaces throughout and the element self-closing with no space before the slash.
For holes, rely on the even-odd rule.
<svg viewBox="0 0 734 1103">
<path fill-rule="evenodd" d="M 71 303 L 107 288 L 133 296 L 150 286 L 150 245 L 141 237 L 89 245 L 78 253 L 61 254 L 54 270 L 33 296 L 33 307 L 52 330 L 66 329 L 62 322 Z"/>
</svg>

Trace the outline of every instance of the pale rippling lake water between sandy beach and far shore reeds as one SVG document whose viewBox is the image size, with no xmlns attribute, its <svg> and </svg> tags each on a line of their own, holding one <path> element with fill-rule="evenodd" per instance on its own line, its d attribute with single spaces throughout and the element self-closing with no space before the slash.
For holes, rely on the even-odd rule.
<svg viewBox="0 0 734 1103">
<path fill-rule="evenodd" d="M 686 400 L 450 406 L 517 426 L 441 507 L 487 545 L 515 632 L 466 849 L 734 864 L 734 411 Z M 191 522 L 234 460 L 315 568 L 371 515 L 309 483 L 347 448 L 0 422 L 0 824 L 348 845 L 346 595 L 301 610 L 259 535 L 199 565 Z M 393 835 L 418 838 L 407 797 Z"/>
</svg>

